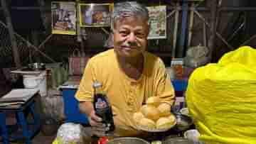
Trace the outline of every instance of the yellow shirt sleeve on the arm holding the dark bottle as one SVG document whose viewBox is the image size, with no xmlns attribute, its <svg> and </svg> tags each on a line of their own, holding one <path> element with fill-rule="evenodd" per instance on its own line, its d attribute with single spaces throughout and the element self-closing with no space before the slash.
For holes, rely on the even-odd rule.
<svg viewBox="0 0 256 144">
<path fill-rule="evenodd" d="M 85 72 L 82 74 L 78 91 L 75 94 L 75 98 L 78 101 L 92 101 L 93 88 L 92 84 L 95 81 L 95 69 L 92 65 L 92 60 L 87 62 Z"/>
</svg>

